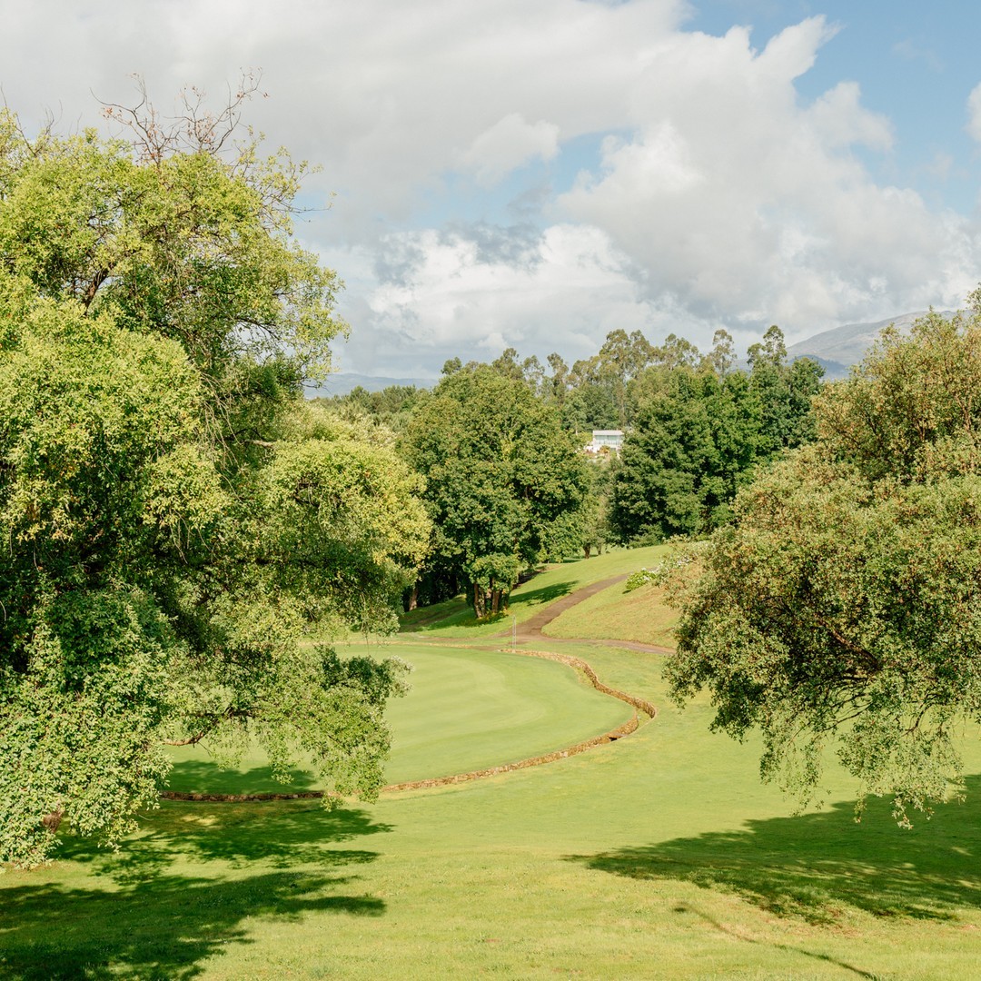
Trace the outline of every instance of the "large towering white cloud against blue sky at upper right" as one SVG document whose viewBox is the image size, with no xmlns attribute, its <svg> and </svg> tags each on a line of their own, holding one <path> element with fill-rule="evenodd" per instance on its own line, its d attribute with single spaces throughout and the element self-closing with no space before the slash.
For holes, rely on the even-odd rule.
<svg viewBox="0 0 981 981">
<path fill-rule="evenodd" d="M 678 35 L 648 67 L 644 124 L 564 195 L 568 215 L 608 232 L 652 296 L 708 320 L 805 336 L 870 310 L 960 302 L 977 266 L 965 223 L 876 185 L 852 155 L 888 150 L 888 121 L 850 82 L 800 104 L 793 79 L 827 36 L 820 18 L 761 53 L 743 29 Z"/>
</svg>

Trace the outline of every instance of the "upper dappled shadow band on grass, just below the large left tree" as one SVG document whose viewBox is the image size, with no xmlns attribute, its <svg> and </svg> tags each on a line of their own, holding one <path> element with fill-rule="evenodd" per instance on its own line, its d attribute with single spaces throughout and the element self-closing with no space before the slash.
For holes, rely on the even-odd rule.
<svg viewBox="0 0 981 981">
<path fill-rule="evenodd" d="M 303 866 L 328 872 L 376 857 L 376 852 L 336 845 L 390 830 L 364 810 L 325 810 L 317 800 L 165 802 L 142 816 L 139 832 L 119 852 L 66 835 L 58 857 L 88 863 L 92 875 L 124 886 L 153 879 L 180 861 L 195 867 L 220 862 L 243 869 L 261 863 L 275 869 Z"/>
</svg>

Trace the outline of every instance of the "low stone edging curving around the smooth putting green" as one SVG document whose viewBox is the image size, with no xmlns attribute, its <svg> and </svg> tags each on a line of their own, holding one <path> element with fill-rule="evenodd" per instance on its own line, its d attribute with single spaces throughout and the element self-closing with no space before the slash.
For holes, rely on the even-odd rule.
<svg viewBox="0 0 981 981">
<path fill-rule="evenodd" d="M 484 777 L 493 777 L 500 773 L 511 773 L 514 770 L 524 770 L 529 766 L 541 766 L 542 763 L 552 763 L 558 759 L 565 759 L 567 756 L 575 756 L 594 746 L 604 746 L 607 743 L 614 743 L 624 736 L 629 736 L 640 725 L 637 713 L 643 712 L 653 718 L 657 714 L 657 709 L 644 698 L 627 695 L 619 692 L 615 688 L 604 685 L 596 676 L 593 667 L 581 657 L 573 657 L 570 654 L 556 654 L 547 650 L 512 650 L 511 648 L 501 648 L 501 653 L 519 653 L 528 657 L 542 657 L 544 660 L 559 661 L 569 667 L 582 671 L 589 679 L 590 684 L 597 692 L 603 695 L 619 698 L 625 701 L 634 709 L 634 717 L 624 722 L 622 725 L 611 729 L 602 736 L 594 736 L 593 739 L 583 743 L 577 743 L 568 749 L 556 749 L 554 752 L 544 753 L 542 756 L 530 756 L 528 759 L 521 759 L 515 763 L 503 763 L 500 766 L 489 766 L 483 770 L 472 770 L 469 773 L 454 773 L 448 777 L 431 777 L 428 780 L 410 780 L 402 784 L 388 784 L 382 788 L 382 793 L 394 793 L 397 791 L 427 790 L 432 787 L 449 787 L 453 784 L 468 783 L 471 780 L 480 780 Z M 182 794 L 179 791 L 166 791 L 160 795 L 163 800 L 192 800 L 208 801 L 213 803 L 246 803 L 258 800 L 321 800 L 325 795 L 336 797 L 337 795 L 329 791 L 302 791 L 295 794 Z"/>
</svg>

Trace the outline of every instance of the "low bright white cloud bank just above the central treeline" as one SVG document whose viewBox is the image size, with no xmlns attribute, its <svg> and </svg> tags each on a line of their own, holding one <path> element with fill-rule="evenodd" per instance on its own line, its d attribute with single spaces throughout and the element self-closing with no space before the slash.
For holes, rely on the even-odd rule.
<svg viewBox="0 0 981 981">
<path fill-rule="evenodd" d="M 392 365 L 441 364 L 454 355 L 486 360 L 508 346 L 575 360 L 594 354 L 609 331 L 646 332 L 655 323 L 630 261 L 604 232 L 552 226 L 534 243 L 520 243 L 521 262 L 510 261 L 505 248 L 488 255 L 482 234 L 389 236 L 387 262 L 359 284 L 364 330 L 341 350 L 342 363 L 391 374 Z"/>
</svg>

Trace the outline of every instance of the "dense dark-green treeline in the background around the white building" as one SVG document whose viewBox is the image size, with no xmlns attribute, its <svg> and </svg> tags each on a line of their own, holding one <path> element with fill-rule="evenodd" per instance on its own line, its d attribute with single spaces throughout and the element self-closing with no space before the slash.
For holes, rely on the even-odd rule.
<svg viewBox="0 0 981 981">
<path fill-rule="evenodd" d="M 677 336 L 654 346 L 613 331 L 572 368 L 546 360 L 508 348 L 490 364 L 447 361 L 432 392 L 359 387 L 326 400 L 390 430 L 425 479 L 435 531 L 408 605 L 463 591 L 478 615 L 493 613 L 546 558 L 708 532 L 760 465 L 814 438 L 822 369 L 788 363 L 776 327 L 746 368 L 723 331 L 705 355 Z M 594 429 L 625 430 L 622 453 L 588 459 Z"/>
</svg>

